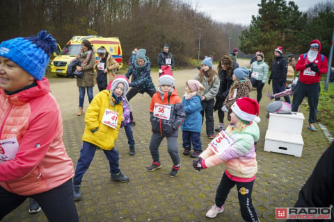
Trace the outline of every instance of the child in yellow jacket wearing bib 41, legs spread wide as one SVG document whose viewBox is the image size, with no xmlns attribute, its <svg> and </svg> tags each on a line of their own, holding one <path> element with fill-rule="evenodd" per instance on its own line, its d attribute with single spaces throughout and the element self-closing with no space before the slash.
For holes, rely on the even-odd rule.
<svg viewBox="0 0 334 222">
<path fill-rule="evenodd" d="M 125 96 L 127 89 L 127 78 L 117 76 L 111 83 L 111 89 L 101 91 L 88 106 L 85 116 L 86 128 L 82 137 L 84 143 L 74 174 L 74 200 L 81 200 L 81 180 L 97 148 L 102 148 L 109 161 L 111 180 L 129 182 L 129 178 L 120 172 L 118 151 L 113 147 L 122 122 L 122 96 Z"/>
</svg>

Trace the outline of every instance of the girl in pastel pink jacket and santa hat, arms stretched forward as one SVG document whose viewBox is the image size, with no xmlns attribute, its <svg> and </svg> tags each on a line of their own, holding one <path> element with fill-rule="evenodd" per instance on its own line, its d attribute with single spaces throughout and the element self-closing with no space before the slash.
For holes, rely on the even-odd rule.
<svg viewBox="0 0 334 222">
<path fill-rule="evenodd" d="M 258 221 L 252 203 L 252 191 L 257 172 L 254 142 L 260 137 L 259 104 L 254 99 L 241 97 L 231 107 L 231 123 L 209 143 L 207 149 L 193 161 L 200 171 L 225 163 L 225 173 L 216 191 L 215 204 L 206 216 L 214 218 L 223 212 L 230 189 L 237 185 L 241 216 L 244 221 Z"/>
</svg>

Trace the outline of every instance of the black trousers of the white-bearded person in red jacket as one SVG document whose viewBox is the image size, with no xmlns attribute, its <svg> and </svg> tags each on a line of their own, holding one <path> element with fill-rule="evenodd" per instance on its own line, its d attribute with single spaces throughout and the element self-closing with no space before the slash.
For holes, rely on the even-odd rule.
<svg viewBox="0 0 334 222">
<path fill-rule="evenodd" d="M 308 96 L 308 105 L 310 106 L 310 114 L 308 116 L 309 123 L 317 121 L 317 110 L 320 95 L 320 83 L 306 84 L 298 81 L 296 89 L 294 89 L 294 100 L 292 101 L 292 112 L 298 112 L 299 105 L 303 102 L 305 96 Z"/>
</svg>

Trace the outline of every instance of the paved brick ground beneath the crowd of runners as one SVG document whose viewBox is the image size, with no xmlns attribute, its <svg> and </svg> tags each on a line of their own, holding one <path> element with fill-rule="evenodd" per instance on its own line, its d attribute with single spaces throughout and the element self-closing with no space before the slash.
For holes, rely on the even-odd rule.
<svg viewBox="0 0 334 222">
<path fill-rule="evenodd" d="M 196 69 L 174 71 L 176 88 L 184 94 L 187 79 L 196 76 Z M 152 72 L 157 86 L 158 74 Z M 84 132 L 84 116 L 77 117 L 78 89 L 74 79 L 50 78 L 51 91 L 61 105 L 64 123 L 63 140 L 67 153 L 77 164 L 81 148 L 81 136 Z M 271 85 L 270 85 L 271 88 Z M 265 85 L 263 92 L 271 89 Z M 97 93 L 97 87 L 94 93 Z M 255 98 L 252 90 L 251 97 Z M 86 98 L 87 100 L 87 98 Z M 109 166 L 103 152 L 97 152 L 82 182 L 83 199 L 77 203 L 81 221 L 242 221 L 239 213 L 237 190 L 231 190 L 225 203 L 225 211 L 216 219 L 207 219 L 205 213 L 214 204 L 216 187 L 224 171 L 224 165 L 206 169 L 198 173 L 191 167 L 192 158 L 182 155 L 182 134 L 179 135 L 179 150 L 182 169 L 176 178 L 168 177 L 172 162 L 166 151 L 166 141 L 161 144 L 162 168 L 157 171 L 146 171 L 151 163 L 148 144 L 150 142 L 149 104 L 147 94 L 137 96 L 130 101 L 134 108 L 134 138 L 136 155 L 128 155 L 125 131 L 120 129 L 116 148 L 120 151 L 120 169 L 129 176 L 130 182 L 120 183 L 109 180 Z M 307 130 L 307 121 L 303 124 L 302 157 L 293 157 L 280 153 L 263 151 L 264 137 L 268 121 L 266 107 L 269 103 L 263 96 L 260 103 L 260 141 L 257 143 L 258 173 L 253 189 L 253 204 L 261 221 L 275 220 L 275 207 L 293 207 L 298 192 L 310 176 L 321 153 L 328 147 L 328 139 L 321 130 L 311 133 Z M 86 110 L 87 103 L 85 103 Z M 308 119 L 306 105 L 301 107 L 305 119 Z M 214 113 L 215 126 L 218 115 Z M 225 123 L 228 121 L 225 120 Z M 202 144 L 209 143 L 202 130 Z M 203 147 L 205 148 L 205 147 Z M 52 200 L 50 200 L 52 201 Z M 17 210 L 6 216 L 8 221 L 46 221 L 43 212 L 30 215 L 28 201 Z"/>
</svg>

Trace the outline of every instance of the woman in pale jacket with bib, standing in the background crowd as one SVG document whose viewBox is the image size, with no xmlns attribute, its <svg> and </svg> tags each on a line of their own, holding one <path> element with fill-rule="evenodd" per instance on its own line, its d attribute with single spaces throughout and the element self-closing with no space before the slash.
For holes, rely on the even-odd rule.
<svg viewBox="0 0 334 222">
<path fill-rule="evenodd" d="M 260 103 L 262 98 L 262 89 L 264 83 L 267 82 L 269 67 L 264 62 L 262 54 L 258 54 L 256 57 L 256 62 L 253 62 L 250 68 L 248 69 L 250 72 L 250 76 L 255 78 L 255 87 L 257 91 L 256 100 L 257 103 Z"/>
</svg>

